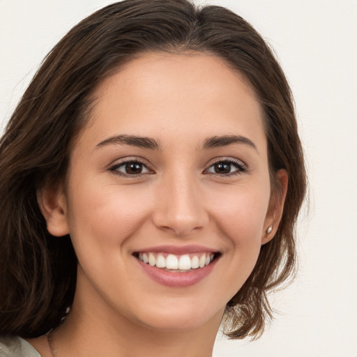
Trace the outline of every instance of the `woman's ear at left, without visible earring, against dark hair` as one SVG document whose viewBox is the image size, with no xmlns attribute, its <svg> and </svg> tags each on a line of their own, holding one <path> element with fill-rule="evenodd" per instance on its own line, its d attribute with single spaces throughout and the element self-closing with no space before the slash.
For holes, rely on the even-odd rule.
<svg viewBox="0 0 357 357">
<path fill-rule="evenodd" d="M 67 222 L 66 196 L 63 185 L 45 187 L 37 191 L 37 202 L 47 222 L 47 230 L 52 236 L 69 234 Z"/>
</svg>

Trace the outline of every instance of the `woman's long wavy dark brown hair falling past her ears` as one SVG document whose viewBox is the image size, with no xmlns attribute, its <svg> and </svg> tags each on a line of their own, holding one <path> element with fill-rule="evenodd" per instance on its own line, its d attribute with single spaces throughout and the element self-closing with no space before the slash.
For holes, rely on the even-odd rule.
<svg viewBox="0 0 357 357">
<path fill-rule="evenodd" d="M 77 259 L 70 237 L 54 238 L 36 190 L 63 179 L 71 143 L 88 120 L 91 93 L 143 52 L 207 52 L 245 76 L 261 102 L 271 178 L 284 168 L 289 188 L 275 238 L 227 303 L 226 333 L 257 337 L 271 317 L 267 292 L 295 266 L 294 225 L 305 168 L 291 91 L 271 50 L 240 16 L 187 0 L 126 0 L 98 10 L 54 47 L 0 141 L 0 333 L 43 335 L 73 302 Z"/>
</svg>

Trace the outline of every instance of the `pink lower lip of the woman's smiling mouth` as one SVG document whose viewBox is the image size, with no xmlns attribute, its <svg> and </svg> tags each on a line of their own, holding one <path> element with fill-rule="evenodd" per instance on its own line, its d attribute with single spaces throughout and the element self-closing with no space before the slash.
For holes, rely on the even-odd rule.
<svg viewBox="0 0 357 357">
<path fill-rule="evenodd" d="M 206 278 L 211 273 L 217 261 L 218 259 L 214 259 L 211 264 L 204 266 L 204 268 L 192 269 L 187 273 L 172 273 L 162 268 L 145 264 L 143 261 L 137 259 L 137 262 L 151 279 L 167 287 L 189 287 L 190 285 L 197 284 L 197 282 Z"/>
</svg>

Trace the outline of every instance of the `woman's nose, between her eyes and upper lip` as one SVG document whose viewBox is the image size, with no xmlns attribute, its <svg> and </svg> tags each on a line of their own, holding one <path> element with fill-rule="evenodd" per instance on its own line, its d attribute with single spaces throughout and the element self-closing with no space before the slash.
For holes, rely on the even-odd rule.
<svg viewBox="0 0 357 357">
<path fill-rule="evenodd" d="M 153 223 L 176 236 L 188 236 L 208 223 L 199 179 L 170 175 L 158 187 Z"/>
</svg>

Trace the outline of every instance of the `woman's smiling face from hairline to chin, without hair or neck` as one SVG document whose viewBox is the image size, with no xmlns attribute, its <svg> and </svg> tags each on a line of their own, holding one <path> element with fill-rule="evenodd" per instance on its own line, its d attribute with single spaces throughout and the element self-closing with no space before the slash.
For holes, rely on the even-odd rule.
<svg viewBox="0 0 357 357">
<path fill-rule="evenodd" d="M 266 146 L 255 94 L 215 56 L 146 54 L 105 79 L 48 220 L 72 238 L 75 301 L 157 329 L 217 324 L 279 215 Z"/>
</svg>

